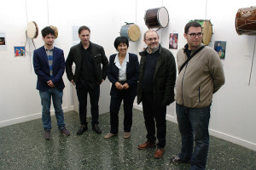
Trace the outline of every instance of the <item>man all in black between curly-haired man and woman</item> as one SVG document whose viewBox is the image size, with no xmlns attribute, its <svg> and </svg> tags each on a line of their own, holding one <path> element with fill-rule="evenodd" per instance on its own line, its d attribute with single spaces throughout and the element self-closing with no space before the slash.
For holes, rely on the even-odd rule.
<svg viewBox="0 0 256 170">
<path fill-rule="evenodd" d="M 79 28 L 81 42 L 70 48 L 66 60 L 67 78 L 76 85 L 79 99 L 79 117 L 81 126 L 78 135 L 88 129 L 86 122 L 87 94 L 90 94 L 91 125 L 96 133 L 102 133 L 98 126 L 100 85 L 108 73 L 108 59 L 102 46 L 90 42 L 90 29 Z M 76 65 L 73 74 L 72 65 Z"/>
</svg>

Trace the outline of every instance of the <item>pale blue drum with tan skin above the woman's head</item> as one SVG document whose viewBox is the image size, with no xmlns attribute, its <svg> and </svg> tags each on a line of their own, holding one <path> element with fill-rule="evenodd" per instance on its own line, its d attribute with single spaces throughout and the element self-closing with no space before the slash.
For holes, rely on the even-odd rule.
<svg viewBox="0 0 256 170">
<path fill-rule="evenodd" d="M 128 40 L 136 42 L 141 37 L 141 31 L 135 24 L 126 24 L 121 27 L 120 36 L 127 37 Z"/>
</svg>

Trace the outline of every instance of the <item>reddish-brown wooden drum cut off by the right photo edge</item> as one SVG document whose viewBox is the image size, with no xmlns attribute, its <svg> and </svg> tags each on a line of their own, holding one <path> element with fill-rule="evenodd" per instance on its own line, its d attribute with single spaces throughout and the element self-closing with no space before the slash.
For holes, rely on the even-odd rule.
<svg viewBox="0 0 256 170">
<path fill-rule="evenodd" d="M 239 35 L 256 35 L 256 7 L 238 9 L 235 25 Z"/>
</svg>

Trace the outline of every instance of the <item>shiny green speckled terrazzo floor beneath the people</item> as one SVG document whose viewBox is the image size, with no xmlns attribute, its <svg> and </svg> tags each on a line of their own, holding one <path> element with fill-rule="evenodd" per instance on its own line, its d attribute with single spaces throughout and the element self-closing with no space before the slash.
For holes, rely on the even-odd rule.
<svg viewBox="0 0 256 170">
<path fill-rule="evenodd" d="M 154 148 L 138 150 L 146 141 L 142 111 L 134 110 L 131 138 L 123 138 L 123 111 L 119 112 L 119 136 L 104 139 L 109 132 L 109 113 L 100 116 L 102 134 L 89 130 L 77 136 L 79 114 L 65 113 L 69 137 L 59 133 L 52 116 L 52 139 L 44 139 L 41 119 L 0 128 L 0 170 L 11 169 L 91 169 L 91 170 L 187 170 L 189 164 L 170 165 L 170 158 L 178 154 L 181 139 L 177 124 L 167 122 L 166 152 L 154 158 Z M 255 170 L 256 151 L 211 137 L 207 159 L 208 170 Z"/>
</svg>

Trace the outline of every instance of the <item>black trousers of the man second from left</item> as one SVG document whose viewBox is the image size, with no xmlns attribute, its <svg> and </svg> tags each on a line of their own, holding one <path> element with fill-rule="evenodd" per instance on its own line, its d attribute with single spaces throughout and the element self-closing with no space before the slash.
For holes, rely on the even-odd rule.
<svg viewBox="0 0 256 170">
<path fill-rule="evenodd" d="M 90 113 L 91 125 L 99 123 L 99 99 L 100 99 L 100 85 L 96 84 L 93 89 L 84 88 L 77 85 L 77 95 L 79 99 L 79 117 L 81 125 L 87 126 L 87 94 L 90 95 Z"/>
</svg>

